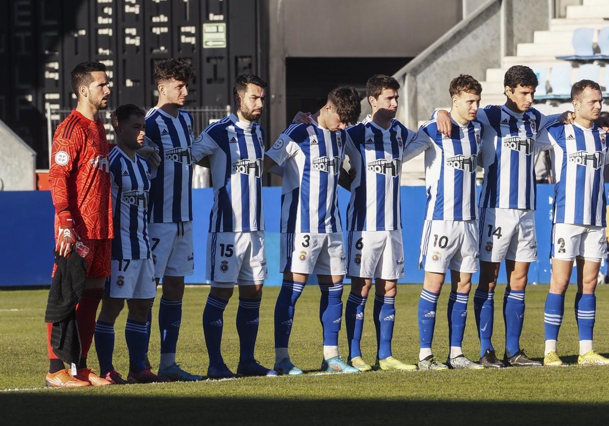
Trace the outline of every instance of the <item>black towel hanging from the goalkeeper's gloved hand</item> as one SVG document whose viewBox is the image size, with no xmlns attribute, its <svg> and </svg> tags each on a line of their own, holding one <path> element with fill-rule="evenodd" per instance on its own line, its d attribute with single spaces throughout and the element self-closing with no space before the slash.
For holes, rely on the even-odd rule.
<svg viewBox="0 0 609 426">
<path fill-rule="evenodd" d="M 46 302 L 44 322 L 53 323 L 51 347 L 60 360 L 78 364 L 80 337 L 76 323 L 76 304 L 85 289 L 87 262 L 72 251 L 66 259 L 55 253 L 55 275 Z"/>
</svg>

